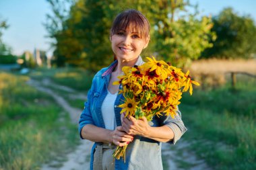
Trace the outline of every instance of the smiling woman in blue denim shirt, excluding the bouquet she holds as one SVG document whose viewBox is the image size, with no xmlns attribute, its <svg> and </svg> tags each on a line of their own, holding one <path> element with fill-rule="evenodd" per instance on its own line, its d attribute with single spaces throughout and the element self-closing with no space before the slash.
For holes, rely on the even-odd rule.
<svg viewBox="0 0 256 170">
<path fill-rule="evenodd" d="M 121 85 L 113 85 L 124 66 L 142 65 L 141 51 L 150 41 L 150 24 L 139 11 L 117 15 L 110 30 L 115 62 L 100 70 L 88 91 L 88 101 L 79 120 L 81 138 L 95 142 L 90 169 L 162 169 L 161 142 L 174 144 L 187 130 L 181 114 L 157 116 L 150 126 L 146 118 L 124 118 L 117 107 L 123 102 Z M 125 162 L 113 159 L 116 146 L 127 145 Z"/>
</svg>

